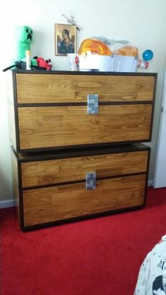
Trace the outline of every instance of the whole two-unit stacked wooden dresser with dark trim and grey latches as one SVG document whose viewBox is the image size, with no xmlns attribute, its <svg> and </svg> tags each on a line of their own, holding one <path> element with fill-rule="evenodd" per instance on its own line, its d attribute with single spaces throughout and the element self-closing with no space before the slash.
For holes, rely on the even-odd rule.
<svg viewBox="0 0 166 295">
<path fill-rule="evenodd" d="M 20 228 L 145 204 L 155 73 L 12 71 Z"/>
</svg>

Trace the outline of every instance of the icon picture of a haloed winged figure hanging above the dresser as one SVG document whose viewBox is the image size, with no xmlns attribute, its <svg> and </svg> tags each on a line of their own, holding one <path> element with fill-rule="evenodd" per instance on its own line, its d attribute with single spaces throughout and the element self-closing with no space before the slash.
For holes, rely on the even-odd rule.
<svg viewBox="0 0 166 295">
<path fill-rule="evenodd" d="M 55 23 L 55 55 L 76 53 L 76 25 Z"/>
</svg>

